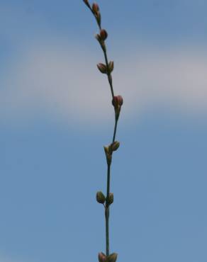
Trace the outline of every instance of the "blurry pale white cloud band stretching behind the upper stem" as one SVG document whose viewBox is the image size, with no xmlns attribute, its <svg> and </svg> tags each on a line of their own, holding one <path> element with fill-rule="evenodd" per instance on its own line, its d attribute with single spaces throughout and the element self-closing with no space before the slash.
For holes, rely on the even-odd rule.
<svg viewBox="0 0 207 262">
<path fill-rule="evenodd" d="M 33 46 L 16 59 L 2 80 L 0 118 L 47 113 L 65 121 L 108 121 L 108 115 L 113 115 L 111 93 L 96 62 L 99 59 L 82 48 Z M 124 98 L 123 117 L 134 118 L 157 107 L 206 113 L 206 68 L 207 52 L 195 47 L 168 52 L 143 49 L 116 57 L 113 82 Z"/>
</svg>

